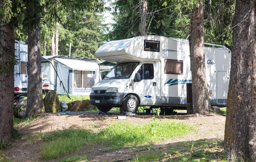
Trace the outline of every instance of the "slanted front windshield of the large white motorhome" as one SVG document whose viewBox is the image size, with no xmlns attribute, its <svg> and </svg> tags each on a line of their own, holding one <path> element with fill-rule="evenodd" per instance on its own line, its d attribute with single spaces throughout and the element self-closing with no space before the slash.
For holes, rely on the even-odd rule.
<svg viewBox="0 0 256 162">
<path fill-rule="evenodd" d="M 135 67 L 138 65 L 138 62 L 129 62 L 121 63 L 115 65 L 113 69 L 107 74 L 104 79 L 118 78 L 118 79 L 127 79 L 130 78 Z"/>
</svg>

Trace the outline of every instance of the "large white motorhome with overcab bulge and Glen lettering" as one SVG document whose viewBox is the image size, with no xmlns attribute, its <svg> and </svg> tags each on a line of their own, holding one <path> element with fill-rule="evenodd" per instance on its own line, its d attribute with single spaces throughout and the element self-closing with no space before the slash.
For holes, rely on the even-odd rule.
<svg viewBox="0 0 256 162">
<path fill-rule="evenodd" d="M 231 51 L 205 43 L 205 66 L 211 105 L 226 105 Z M 97 58 L 117 65 L 92 87 L 90 104 L 100 111 L 138 106 L 161 108 L 167 113 L 186 108 L 186 83 L 191 83 L 189 43 L 162 36 L 138 36 L 105 43 Z M 200 87 L 198 87 L 200 88 Z"/>
</svg>

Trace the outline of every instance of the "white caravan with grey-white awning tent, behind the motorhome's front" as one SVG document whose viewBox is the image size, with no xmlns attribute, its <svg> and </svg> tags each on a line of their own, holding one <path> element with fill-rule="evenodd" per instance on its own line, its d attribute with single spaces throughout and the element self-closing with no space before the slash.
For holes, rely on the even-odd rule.
<svg viewBox="0 0 256 162">
<path fill-rule="evenodd" d="M 110 71 L 99 66 L 99 59 L 72 56 L 42 56 L 42 90 L 57 94 L 89 95 L 91 87 L 100 80 L 100 72 Z"/>
</svg>

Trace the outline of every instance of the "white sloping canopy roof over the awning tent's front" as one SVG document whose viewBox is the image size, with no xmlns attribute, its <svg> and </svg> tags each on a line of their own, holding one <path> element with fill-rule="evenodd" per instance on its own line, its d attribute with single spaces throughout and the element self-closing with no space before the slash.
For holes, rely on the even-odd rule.
<svg viewBox="0 0 256 162">
<path fill-rule="evenodd" d="M 54 61 L 70 70 L 97 71 L 99 68 L 96 61 L 54 58 Z"/>
</svg>

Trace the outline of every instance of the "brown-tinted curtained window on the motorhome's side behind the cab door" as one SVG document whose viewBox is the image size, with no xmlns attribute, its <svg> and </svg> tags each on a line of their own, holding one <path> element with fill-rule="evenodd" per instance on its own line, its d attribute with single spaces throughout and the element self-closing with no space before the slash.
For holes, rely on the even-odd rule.
<svg viewBox="0 0 256 162">
<path fill-rule="evenodd" d="M 183 74 L 183 61 L 182 60 L 164 60 L 164 73 L 166 74 Z"/>
</svg>

